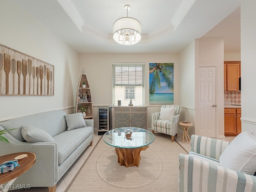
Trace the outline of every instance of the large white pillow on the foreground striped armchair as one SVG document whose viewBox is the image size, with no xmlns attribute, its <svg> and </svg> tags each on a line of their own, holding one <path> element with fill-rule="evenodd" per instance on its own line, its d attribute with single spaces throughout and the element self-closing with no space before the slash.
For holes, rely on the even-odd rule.
<svg viewBox="0 0 256 192">
<path fill-rule="evenodd" d="M 242 132 L 234 138 L 219 158 L 220 165 L 253 175 L 256 172 L 256 138 L 252 132 Z"/>
</svg>

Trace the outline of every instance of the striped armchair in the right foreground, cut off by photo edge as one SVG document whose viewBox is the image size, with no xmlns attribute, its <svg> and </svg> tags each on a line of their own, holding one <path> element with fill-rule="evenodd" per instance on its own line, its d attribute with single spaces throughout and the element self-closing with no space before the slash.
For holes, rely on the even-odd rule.
<svg viewBox="0 0 256 192">
<path fill-rule="evenodd" d="M 256 176 L 220 166 L 229 142 L 191 136 L 191 151 L 179 155 L 179 192 L 256 192 Z"/>
</svg>

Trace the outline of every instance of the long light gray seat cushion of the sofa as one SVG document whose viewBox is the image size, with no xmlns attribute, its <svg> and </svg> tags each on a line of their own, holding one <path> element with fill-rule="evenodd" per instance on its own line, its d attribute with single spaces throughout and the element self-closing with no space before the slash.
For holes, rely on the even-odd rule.
<svg viewBox="0 0 256 192">
<path fill-rule="evenodd" d="M 53 139 L 58 146 L 58 164 L 61 164 L 90 134 L 91 126 L 65 131 Z"/>
</svg>

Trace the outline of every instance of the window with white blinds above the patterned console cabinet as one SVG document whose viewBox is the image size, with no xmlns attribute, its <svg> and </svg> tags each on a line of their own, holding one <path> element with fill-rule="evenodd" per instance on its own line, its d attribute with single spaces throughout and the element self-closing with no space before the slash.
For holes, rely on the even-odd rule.
<svg viewBox="0 0 256 192">
<path fill-rule="evenodd" d="M 113 63 L 112 105 L 145 105 L 145 63 Z"/>
</svg>

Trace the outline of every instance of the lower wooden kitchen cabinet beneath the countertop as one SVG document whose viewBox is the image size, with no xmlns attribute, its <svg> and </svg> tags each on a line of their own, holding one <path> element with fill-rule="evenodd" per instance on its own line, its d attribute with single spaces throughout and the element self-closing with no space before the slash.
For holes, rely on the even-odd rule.
<svg viewBox="0 0 256 192">
<path fill-rule="evenodd" d="M 224 134 L 225 136 L 236 136 L 241 132 L 241 109 L 224 109 Z"/>
</svg>

